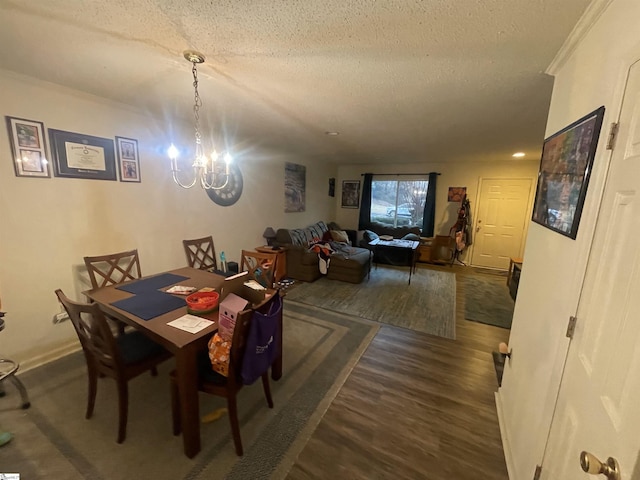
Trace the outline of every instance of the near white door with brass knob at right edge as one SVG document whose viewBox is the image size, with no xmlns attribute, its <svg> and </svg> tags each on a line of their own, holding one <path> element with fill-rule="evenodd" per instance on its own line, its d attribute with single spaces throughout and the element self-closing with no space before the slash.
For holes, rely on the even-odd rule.
<svg viewBox="0 0 640 480">
<path fill-rule="evenodd" d="M 583 450 L 603 462 L 617 459 L 621 480 L 640 478 L 639 188 L 637 62 L 629 73 L 576 332 L 542 463 L 543 479 L 604 479 L 582 472 Z"/>
</svg>

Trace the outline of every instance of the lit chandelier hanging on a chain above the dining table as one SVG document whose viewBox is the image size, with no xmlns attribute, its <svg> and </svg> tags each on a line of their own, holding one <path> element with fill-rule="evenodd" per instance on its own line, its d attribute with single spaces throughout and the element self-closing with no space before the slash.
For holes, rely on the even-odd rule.
<svg viewBox="0 0 640 480">
<path fill-rule="evenodd" d="M 193 74 L 193 118 L 195 126 L 196 136 L 196 149 L 195 156 L 191 167 L 193 168 L 193 178 L 189 183 L 182 183 L 180 177 L 186 175 L 180 175 L 180 169 L 178 168 L 178 155 L 179 151 L 175 145 L 171 144 L 168 150 L 169 159 L 171 160 L 171 173 L 173 175 L 173 181 L 180 185 L 182 188 L 191 188 L 196 183 L 200 183 L 200 186 L 204 189 L 221 190 L 229 183 L 229 168 L 232 161 L 232 157 L 229 152 L 226 152 L 220 159 L 220 155 L 213 149 L 211 155 L 207 156 L 204 153 L 204 147 L 202 146 L 202 135 L 200 134 L 200 108 L 202 107 L 202 99 L 198 93 L 198 69 L 199 63 L 204 63 L 204 55 L 199 52 L 187 50 L 183 53 L 184 58 L 191 62 L 191 73 Z"/>
</svg>

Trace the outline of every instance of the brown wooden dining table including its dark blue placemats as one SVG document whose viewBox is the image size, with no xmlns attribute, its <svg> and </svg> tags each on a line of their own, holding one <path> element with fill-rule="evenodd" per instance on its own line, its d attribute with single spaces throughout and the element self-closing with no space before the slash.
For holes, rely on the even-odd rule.
<svg viewBox="0 0 640 480">
<path fill-rule="evenodd" d="M 169 322 L 188 313 L 185 295 L 171 295 L 166 290 L 180 285 L 196 290 L 212 288 L 221 293 L 224 283 L 222 275 L 184 267 L 83 292 L 109 316 L 139 330 L 174 355 L 184 453 L 189 458 L 201 448 L 197 354 L 207 348 L 218 329 L 218 310 L 198 314 L 213 322 L 206 328 L 196 333 L 181 330 Z M 274 380 L 282 375 L 281 342 L 279 347 L 271 370 Z"/>
</svg>

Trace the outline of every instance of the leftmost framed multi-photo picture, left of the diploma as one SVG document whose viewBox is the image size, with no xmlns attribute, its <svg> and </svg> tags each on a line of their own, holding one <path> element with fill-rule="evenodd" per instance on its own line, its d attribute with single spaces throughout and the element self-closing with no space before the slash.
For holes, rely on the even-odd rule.
<svg viewBox="0 0 640 480">
<path fill-rule="evenodd" d="M 17 177 L 51 177 L 47 160 L 44 124 L 23 118 L 5 117 L 9 129 L 13 166 Z"/>
</svg>

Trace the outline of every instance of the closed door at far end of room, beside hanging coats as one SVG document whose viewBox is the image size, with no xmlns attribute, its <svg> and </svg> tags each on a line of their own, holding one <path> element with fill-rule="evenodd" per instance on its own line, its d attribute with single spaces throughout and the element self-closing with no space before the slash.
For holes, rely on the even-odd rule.
<svg viewBox="0 0 640 480">
<path fill-rule="evenodd" d="M 530 178 L 483 178 L 475 218 L 471 265 L 507 270 L 522 256 L 529 220 Z"/>
</svg>

